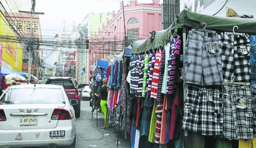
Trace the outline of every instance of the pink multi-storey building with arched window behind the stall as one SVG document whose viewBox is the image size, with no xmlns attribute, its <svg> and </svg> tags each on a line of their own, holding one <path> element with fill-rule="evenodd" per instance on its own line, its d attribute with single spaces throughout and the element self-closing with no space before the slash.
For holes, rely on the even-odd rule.
<svg viewBox="0 0 256 148">
<path fill-rule="evenodd" d="M 134 40 L 147 39 L 150 31 L 161 30 L 161 5 L 160 0 L 152 0 L 153 3 L 137 3 L 131 0 L 130 4 L 124 6 L 125 29 L 128 43 Z M 90 37 L 89 47 L 89 71 L 97 59 L 103 59 L 115 51 L 120 51 L 124 46 L 125 29 L 122 3 L 116 13 L 113 11 L 113 18 L 102 23 L 102 30 L 99 34 Z M 89 78 L 89 77 L 88 77 Z"/>
</svg>

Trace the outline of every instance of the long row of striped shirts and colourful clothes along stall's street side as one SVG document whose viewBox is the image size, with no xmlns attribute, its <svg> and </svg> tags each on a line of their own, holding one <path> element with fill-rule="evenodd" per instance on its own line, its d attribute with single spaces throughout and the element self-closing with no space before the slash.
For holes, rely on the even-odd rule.
<svg viewBox="0 0 256 148">
<path fill-rule="evenodd" d="M 165 145 L 180 138 L 183 108 L 180 44 L 177 36 L 148 54 L 134 54 L 130 60 L 125 58 L 108 67 L 109 123 L 116 125 L 121 121 L 125 137 L 129 131 L 132 148 L 159 147 L 160 143 Z"/>
</svg>

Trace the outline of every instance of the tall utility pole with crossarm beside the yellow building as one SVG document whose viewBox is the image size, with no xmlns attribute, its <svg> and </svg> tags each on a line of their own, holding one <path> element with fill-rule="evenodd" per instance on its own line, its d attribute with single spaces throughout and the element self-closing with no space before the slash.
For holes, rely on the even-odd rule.
<svg viewBox="0 0 256 148">
<path fill-rule="evenodd" d="M 29 46 L 29 69 L 28 69 L 28 80 L 30 80 L 30 74 L 31 74 L 31 52 L 33 50 L 33 14 L 44 14 L 44 12 L 35 12 L 35 0 L 31 0 L 31 11 L 20 11 L 20 13 L 27 13 L 30 14 L 30 40 L 31 45 Z M 35 60 L 35 59 L 34 59 Z"/>
</svg>

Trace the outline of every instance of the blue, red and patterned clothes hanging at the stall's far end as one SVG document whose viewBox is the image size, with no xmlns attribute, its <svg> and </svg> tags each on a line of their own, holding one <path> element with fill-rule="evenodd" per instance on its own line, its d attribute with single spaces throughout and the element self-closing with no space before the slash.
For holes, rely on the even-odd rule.
<svg viewBox="0 0 256 148">
<path fill-rule="evenodd" d="M 128 64 L 130 59 L 124 57 L 121 60 L 115 60 L 108 66 L 108 123 L 112 126 L 119 125 L 120 111 L 122 116 L 122 129 L 125 131 L 125 137 L 129 130 L 129 108 L 130 92 L 129 85 L 126 83 L 128 73 Z"/>
</svg>

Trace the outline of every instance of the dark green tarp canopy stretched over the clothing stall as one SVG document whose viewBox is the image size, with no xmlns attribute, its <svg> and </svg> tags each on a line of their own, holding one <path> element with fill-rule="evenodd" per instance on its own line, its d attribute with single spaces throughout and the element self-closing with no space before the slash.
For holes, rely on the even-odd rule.
<svg viewBox="0 0 256 148">
<path fill-rule="evenodd" d="M 238 17 L 218 17 L 212 15 L 198 14 L 191 11 L 183 10 L 180 12 L 176 23 L 166 30 L 157 31 L 154 39 L 150 40 L 150 37 L 146 40 L 138 40 L 132 43 L 132 52 L 143 53 L 146 47 L 146 51 L 149 49 L 157 48 L 159 45 L 163 45 L 165 40 L 169 40 L 171 32 L 174 32 L 175 26 L 179 28 L 178 32 L 181 32 L 183 28 L 195 28 L 202 29 L 202 23 L 206 23 L 207 30 L 213 30 L 217 32 L 233 32 L 233 27 L 238 26 L 235 32 L 256 34 L 256 19 L 251 18 L 238 18 Z"/>
</svg>

